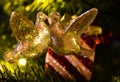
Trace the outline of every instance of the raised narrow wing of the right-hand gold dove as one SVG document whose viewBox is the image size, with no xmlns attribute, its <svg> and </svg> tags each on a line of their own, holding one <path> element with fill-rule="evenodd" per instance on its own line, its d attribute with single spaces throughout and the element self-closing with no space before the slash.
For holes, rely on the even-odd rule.
<svg viewBox="0 0 120 82">
<path fill-rule="evenodd" d="M 76 31 L 79 34 L 82 34 L 85 30 L 87 30 L 88 26 L 93 22 L 98 10 L 96 8 L 92 8 L 75 19 L 71 20 L 68 26 L 65 29 L 65 32 L 74 32 Z"/>
</svg>

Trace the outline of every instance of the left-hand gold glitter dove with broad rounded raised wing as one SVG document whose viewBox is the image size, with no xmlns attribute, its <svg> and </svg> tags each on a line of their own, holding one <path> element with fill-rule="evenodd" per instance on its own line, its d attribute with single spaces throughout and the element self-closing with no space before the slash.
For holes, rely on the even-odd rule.
<svg viewBox="0 0 120 82">
<path fill-rule="evenodd" d="M 35 25 L 20 12 L 14 11 L 10 17 L 10 27 L 18 40 L 16 47 L 5 52 L 4 59 L 14 62 L 21 57 L 35 57 L 43 54 L 51 43 L 49 27 L 45 24 L 47 16 L 37 14 Z"/>
</svg>

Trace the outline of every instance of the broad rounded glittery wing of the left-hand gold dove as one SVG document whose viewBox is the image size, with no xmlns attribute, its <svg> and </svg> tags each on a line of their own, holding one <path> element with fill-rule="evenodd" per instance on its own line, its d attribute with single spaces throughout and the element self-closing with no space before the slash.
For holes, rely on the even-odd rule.
<svg viewBox="0 0 120 82">
<path fill-rule="evenodd" d="M 14 11 L 11 14 L 10 27 L 18 41 L 29 40 L 32 38 L 30 34 L 35 32 L 34 24 L 32 21 L 27 19 L 18 11 Z"/>
</svg>

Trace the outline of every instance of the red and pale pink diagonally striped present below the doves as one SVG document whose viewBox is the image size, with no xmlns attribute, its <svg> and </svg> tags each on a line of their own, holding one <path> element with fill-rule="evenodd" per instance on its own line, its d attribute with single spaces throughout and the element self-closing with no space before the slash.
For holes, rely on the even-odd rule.
<svg viewBox="0 0 120 82">
<path fill-rule="evenodd" d="M 79 39 L 79 44 L 86 49 L 91 49 L 82 39 Z M 46 70 L 55 71 L 63 78 L 88 81 L 91 79 L 95 53 L 90 56 L 82 54 L 84 53 L 81 55 L 56 54 L 52 48 L 49 48 L 46 53 Z"/>
</svg>

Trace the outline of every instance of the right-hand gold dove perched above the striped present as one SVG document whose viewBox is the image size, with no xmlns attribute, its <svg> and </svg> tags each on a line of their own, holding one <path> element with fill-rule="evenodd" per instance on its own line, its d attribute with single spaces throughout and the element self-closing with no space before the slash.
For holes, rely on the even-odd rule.
<svg viewBox="0 0 120 82">
<path fill-rule="evenodd" d="M 80 54 L 82 52 L 85 56 L 92 55 L 94 51 L 82 47 L 78 39 L 82 39 L 80 36 L 87 31 L 97 13 L 98 10 L 92 8 L 80 16 L 67 21 L 66 25 L 64 25 L 65 27 L 62 25 L 62 21 L 67 18 L 60 21 L 61 16 L 59 13 L 50 13 L 49 18 L 51 24 L 49 27 L 53 50 L 61 54 Z"/>
</svg>

